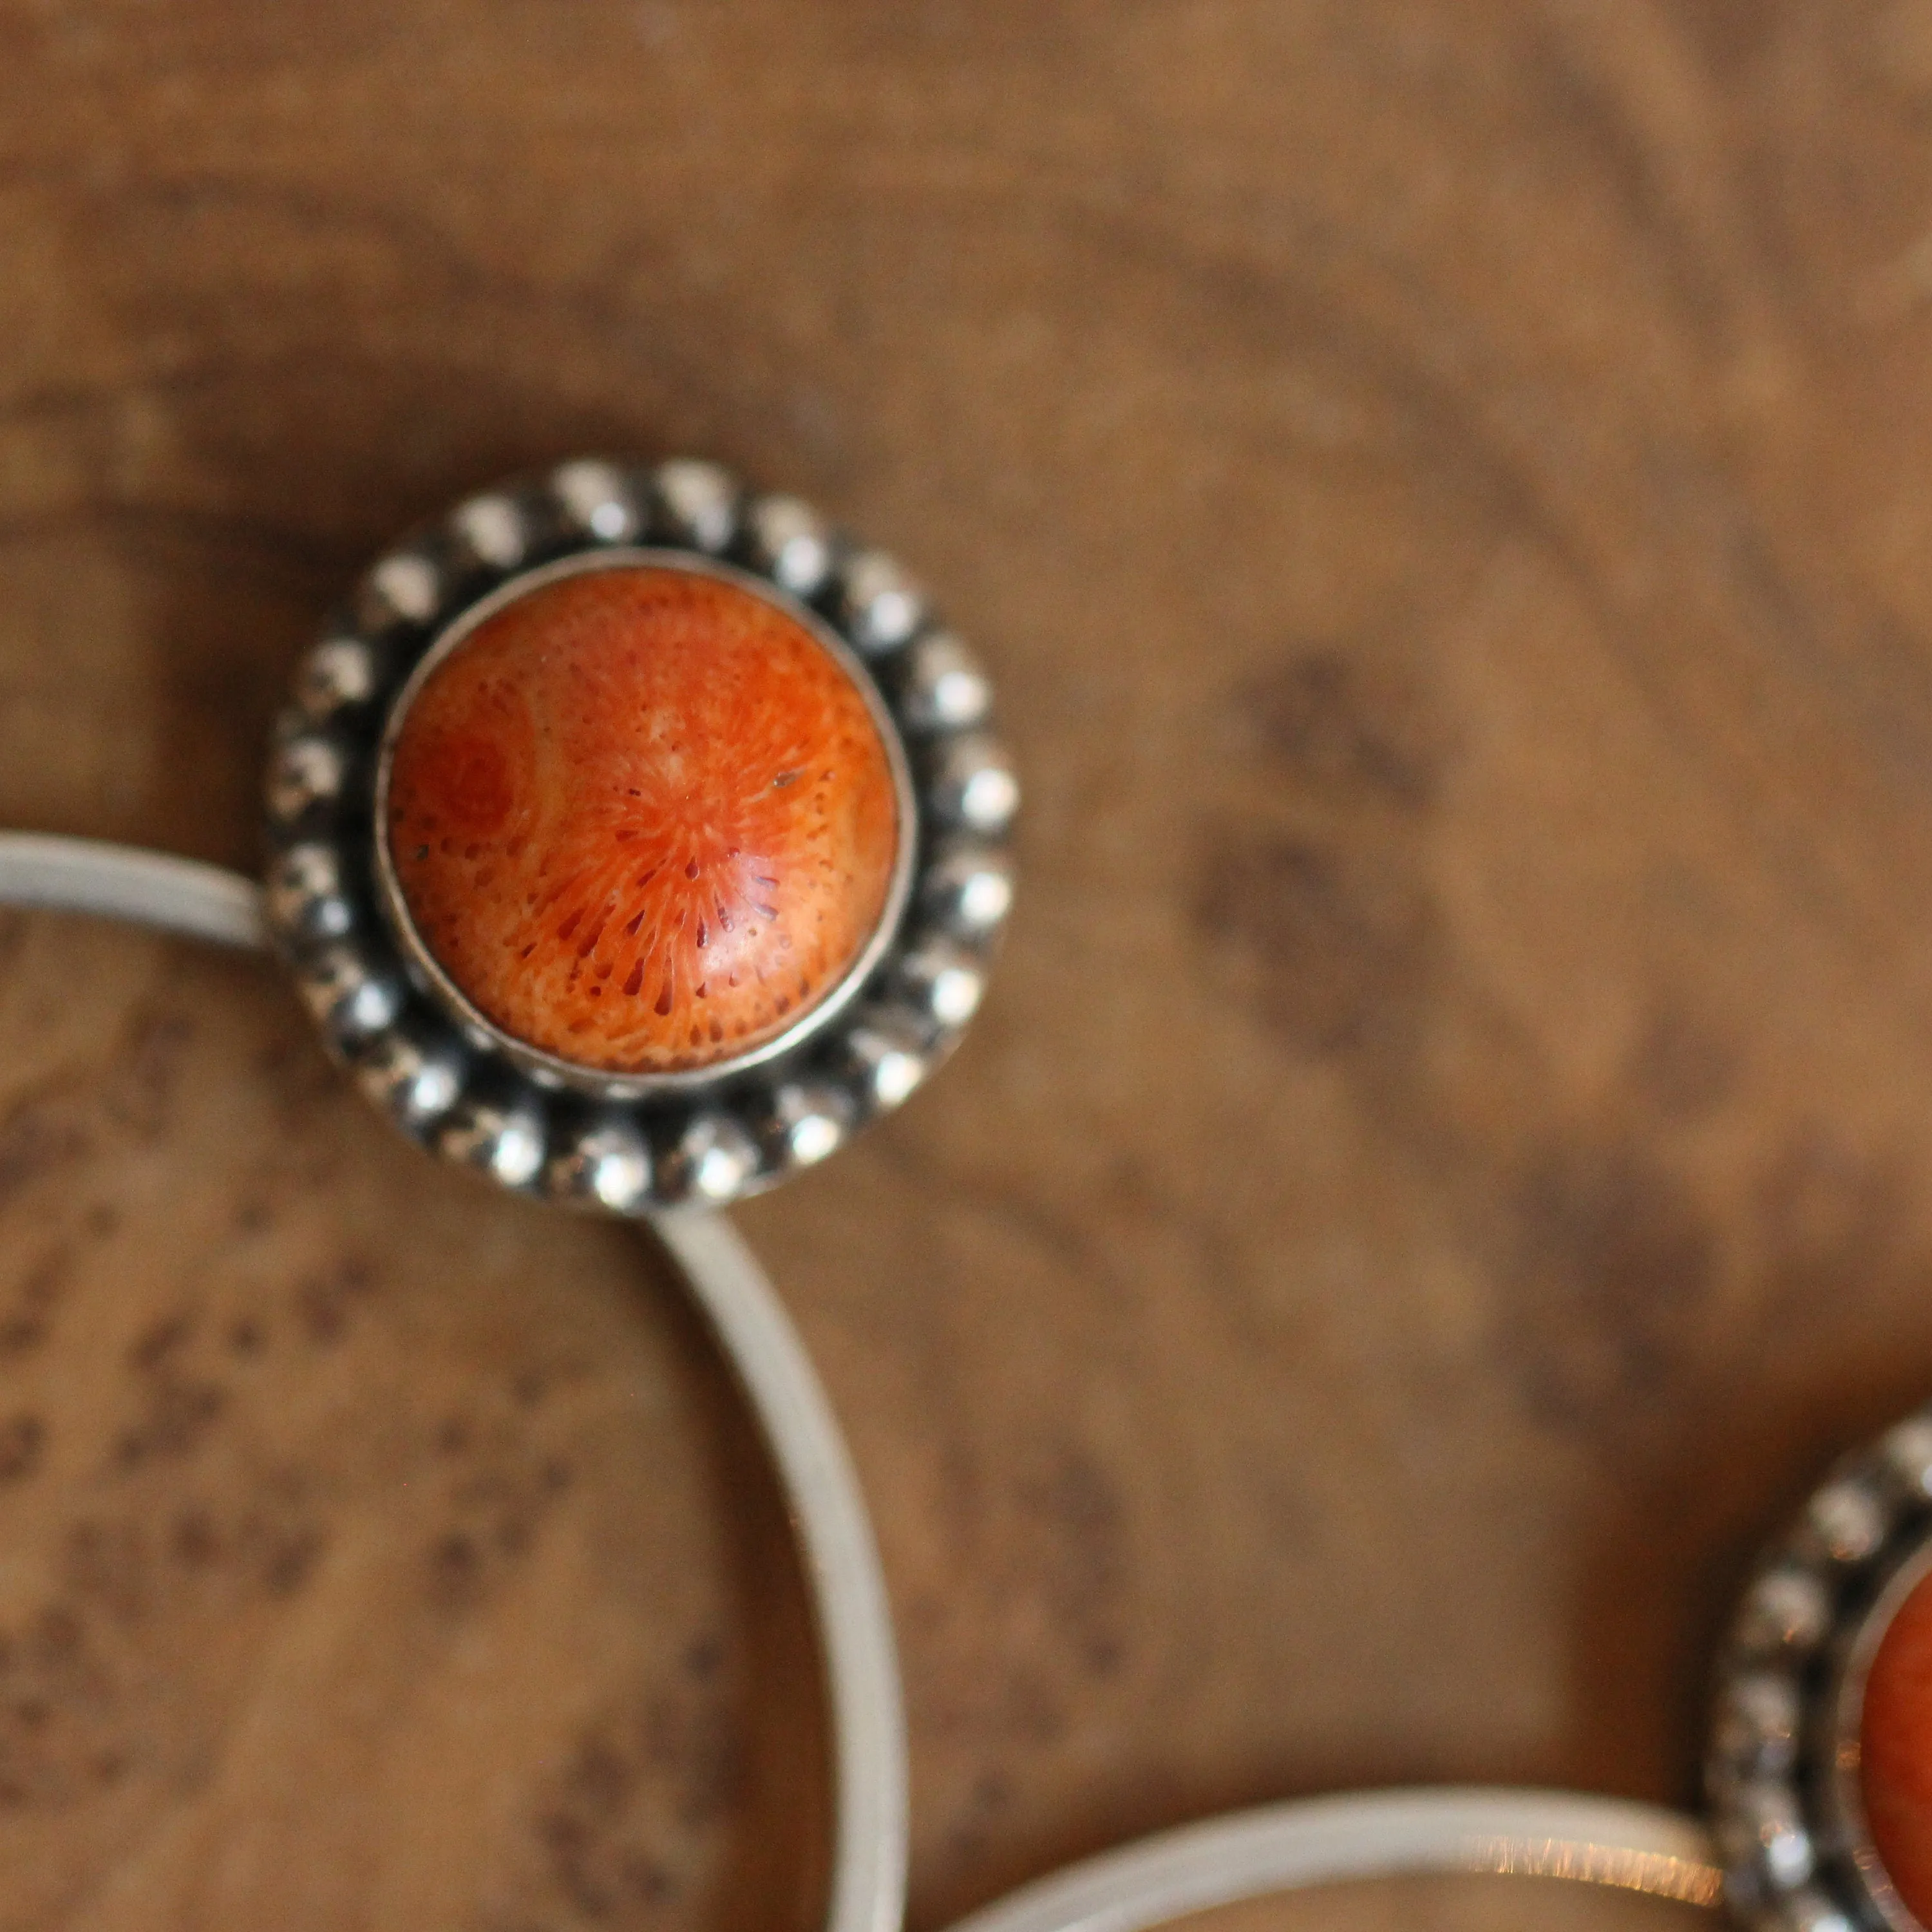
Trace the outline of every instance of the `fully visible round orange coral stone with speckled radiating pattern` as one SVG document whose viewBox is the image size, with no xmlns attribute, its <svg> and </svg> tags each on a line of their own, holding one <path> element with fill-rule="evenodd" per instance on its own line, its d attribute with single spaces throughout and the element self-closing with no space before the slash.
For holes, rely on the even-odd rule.
<svg viewBox="0 0 1932 1932">
<path fill-rule="evenodd" d="M 866 951 L 898 838 L 844 665 L 755 591 L 659 564 L 487 618 L 390 755 L 423 945 L 502 1032 L 614 1074 L 715 1066 L 810 1012 Z"/>
</svg>

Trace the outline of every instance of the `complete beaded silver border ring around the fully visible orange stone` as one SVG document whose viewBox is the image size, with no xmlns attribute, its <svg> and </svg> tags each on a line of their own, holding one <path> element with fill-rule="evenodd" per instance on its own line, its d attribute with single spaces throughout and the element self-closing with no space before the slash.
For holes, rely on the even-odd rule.
<svg viewBox="0 0 1932 1932">
<path fill-rule="evenodd" d="M 887 935 L 782 1051 L 697 1084 L 585 1094 L 466 1024 L 412 956 L 377 877 L 375 790 L 392 707 L 468 612 L 570 558 L 638 551 L 742 572 L 850 649 L 902 746 L 918 842 Z M 920 585 L 796 497 L 690 458 L 562 464 L 404 539 L 301 659 L 269 759 L 269 929 L 328 1049 L 412 1140 L 614 1213 L 724 1206 L 904 1101 L 976 1012 L 1012 902 L 1020 804 L 991 724 L 991 682 Z"/>
</svg>

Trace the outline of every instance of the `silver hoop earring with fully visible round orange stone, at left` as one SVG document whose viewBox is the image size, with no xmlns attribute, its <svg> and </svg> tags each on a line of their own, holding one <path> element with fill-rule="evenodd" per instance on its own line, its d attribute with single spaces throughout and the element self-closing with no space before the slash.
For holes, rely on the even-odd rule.
<svg viewBox="0 0 1932 1932">
<path fill-rule="evenodd" d="M 715 1211 L 904 1101 L 972 1018 L 1018 806 L 912 578 L 713 464 L 574 462 L 379 558 L 303 657 L 263 887 L 0 835 L 0 902 L 253 951 L 412 1140 L 647 1221 L 800 1544 L 833 1733 L 827 1932 L 898 1932 L 906 1747 L 838 1426 Z"/>
</svg>

